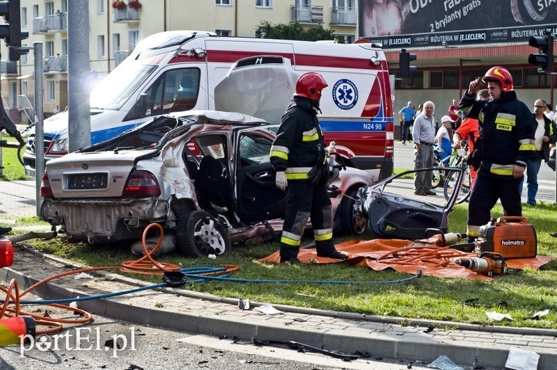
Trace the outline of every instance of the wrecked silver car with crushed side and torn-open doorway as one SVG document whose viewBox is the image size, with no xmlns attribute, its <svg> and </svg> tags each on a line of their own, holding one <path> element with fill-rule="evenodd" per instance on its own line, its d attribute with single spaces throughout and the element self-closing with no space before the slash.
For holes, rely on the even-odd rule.
<svg viewBox="0 0 557 370">
<path fill-rule="evenodd" d="M 276 125 L 240 113 L 160 116 L 49 161 L 41 218 L 90 243 L 136 240 L 148 224 L 159 223 L 191 256 L 269 239 L 267 220 L 284 216 L 286 195 L 269 162 L 275 131 Z M 340 170 L 329 184 L 336 231 L 366 230 L 354 198 L 370 184 L 368 172 L 355 168 Z M 273 225 L 280 230 L 281 223 Z"/>
</svg>

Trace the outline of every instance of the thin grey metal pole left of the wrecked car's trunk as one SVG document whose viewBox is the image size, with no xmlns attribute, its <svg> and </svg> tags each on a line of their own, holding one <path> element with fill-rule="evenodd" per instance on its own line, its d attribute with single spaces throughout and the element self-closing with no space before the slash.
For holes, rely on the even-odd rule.
<svg viewBox="0 0 557 370">
<path fill-rule="evenodd" d="M 45 174 L 45 131 L 42 126 L 43 115 L 43 95 L 45 88 L 42 81 L 42 42 L 33 42 L 33 53 L 35 55 L 35 193 L 37 200 L 37 216 L 40 216 L 42 198 L 40 198 L 40 183 L 42 175 Z"/>
</svg>

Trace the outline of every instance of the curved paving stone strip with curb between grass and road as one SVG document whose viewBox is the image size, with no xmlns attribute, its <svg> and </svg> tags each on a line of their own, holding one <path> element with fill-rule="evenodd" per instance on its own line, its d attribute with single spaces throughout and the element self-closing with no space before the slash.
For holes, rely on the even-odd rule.
<svg viewBox="0 0 557 370">
<path fill-rule="evenodd" d="M 0 279 L 15 278 L 20 289 L 38 280 L 80 267 L 58 257 L 18 247 L 13 266 Z M 116 273 L 95 279 L 73 275 L 53 280 L 35 293 L 45 299 L 93 296 L 150 284 Z M 557 332 L 529 328 L 487 327 L 443 321 L 419 321 L 347 312 L 274 305 L 282 314 L 265 315 L 253 307 L 242 311 L 237 299 L 186 289 L 164 288 L 113 298 L 88 300 L 78 307 L 93 314 L 143 325 L 249 340 L 299 341 L 332 351 L 370 353 L 373 357 L 422 360 L 447 355 L 466 367 L 503 368 L 510 347 L 540 355 L 538 369 L 557 369 Z M 400 325 L 404 323 L 404 325 Z M 436 328 L 427 332 L 427 325 Z"/>
</svg>

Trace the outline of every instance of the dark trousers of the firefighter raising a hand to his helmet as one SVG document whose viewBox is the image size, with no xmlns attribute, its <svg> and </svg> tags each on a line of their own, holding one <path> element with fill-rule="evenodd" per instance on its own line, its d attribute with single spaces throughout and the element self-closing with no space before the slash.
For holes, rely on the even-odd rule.
<svg viewBox="0 0 557 370">
<path fill-rule="evenodd" d="M 518 179 L 496 179 L 478 173 L 473 184 L 468 204 L 468 234 L 469 240 L 478 236 L 480 226 L 489 222 L 491 210 L 497 200 L 505 209 L 506 216 L 522 216 L 522 205 L 519 186 L 522 177 Z"/>
</svg>

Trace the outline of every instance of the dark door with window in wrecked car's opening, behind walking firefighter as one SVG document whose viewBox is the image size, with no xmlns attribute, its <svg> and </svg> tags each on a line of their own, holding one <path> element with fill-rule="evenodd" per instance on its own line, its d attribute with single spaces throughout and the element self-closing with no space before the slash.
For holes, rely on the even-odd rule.
<svg viewBox="0 0 557 370">
<path fill-rule="evenodd" d="M 260 129 L 240 131 L 237 139 L 237 212 L 244 223 L 284 217 L 286 191 L 276 187 L 269 161 L 272 137 Z"/>
</svg>

